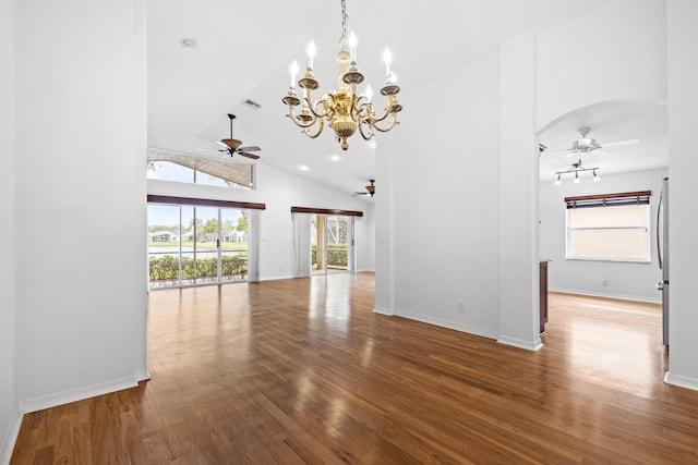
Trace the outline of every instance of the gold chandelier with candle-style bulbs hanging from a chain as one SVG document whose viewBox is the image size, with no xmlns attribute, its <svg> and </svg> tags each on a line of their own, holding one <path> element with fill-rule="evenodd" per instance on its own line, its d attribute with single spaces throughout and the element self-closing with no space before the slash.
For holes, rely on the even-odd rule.
<svg viewBox="0 0 698 465">
<path fill-rule="evenodd" d="M 347 37 L 347 5 L 346 0 L 341 0 L 341 37 L 339 39 L 339 77 L 337 79 L 338 90 L 330 90 L 318 100 L 313 101 L 312 93 L 318 87 L 313 75 L 313 59 L 315 56 L 315 44 L 308 46 L 310 62 L 305 69 L 305 75 L 298 82 L 303 89 L 301 98 L 296 94 L 296 75 L 298 73 L 298 62 L 291 64 L 291 84 L 288 95 L 282 98 L 288 105 L 288 114 L 293 123 L 303 129 L 303 134 L 310 138 L 317 137 L 325 127 L 325 122 L 335 131 L 337 142 L 341 149 L 349 148 L 347 138 L 351 137 L 357 129 L 361 136 L 369 140 L 373 137 L 374 131 L 388 132 L 396 124 L 397 113 L 402 110 L 402 106 L 397 102 L 397 94 L 400 88 L 395 84 L 395 75 L 390 72 L 390 51 L 386 48 L 383 54 L 385 61 L 385 84 L 381 94 L 387 97 L 387 106 L 382 115 L 376 115 L 373 110 L 373 91 L 369 85 L 365 94 L 358 94 L 357 86 L 363 82 L 363 74 L 357 68 L 357 38 L 351 33 Z M 300 113 L 296 113 L 296 108 L 301 106 Z"/>
</svg>

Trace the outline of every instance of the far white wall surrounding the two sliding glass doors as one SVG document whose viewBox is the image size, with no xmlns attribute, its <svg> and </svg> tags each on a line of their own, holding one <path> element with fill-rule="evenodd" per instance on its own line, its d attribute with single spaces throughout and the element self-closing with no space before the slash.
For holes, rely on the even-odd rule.
<svg viewBox="0 0 698 465">
<path fill-rule="evenodd" d="M 293 228 L 291 207 L 328 208 L 362 211 L 354 219 L 357 271 L 371 270 L 375 261 L 373 236 L 373 208 L 358 197 L 334 191 L 289 174 L 274 167 L 257 163 L 254 191 L 231 189 L 148 180 L 148 194 L 220 200 L 262 203 L 266 209 L 260 213 L 260 280 L 293 277 Z M 143 255 L 142 260 L 145 260 Z"/>
</svg>

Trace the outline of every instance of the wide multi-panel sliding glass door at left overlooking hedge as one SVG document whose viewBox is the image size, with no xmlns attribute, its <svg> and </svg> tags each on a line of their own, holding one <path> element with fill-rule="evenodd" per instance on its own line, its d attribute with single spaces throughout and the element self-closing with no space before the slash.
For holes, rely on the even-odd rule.
<svg viewBox="0 0 698 465">
<path fill-rule="evenodd" d="M 148 204 L 151 289 L 245 281 L 249 211 Z"/>
</svg>

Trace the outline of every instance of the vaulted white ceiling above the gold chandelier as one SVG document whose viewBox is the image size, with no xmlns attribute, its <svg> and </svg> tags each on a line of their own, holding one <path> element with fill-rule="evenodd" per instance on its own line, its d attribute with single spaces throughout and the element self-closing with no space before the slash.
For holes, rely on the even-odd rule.
<svg viewBox="0 0 698 465">
<path fill-rule="evenodd" d="M 420 84 L 495 51 L 507 38 L 559 24 L 607 2 L 347 0 L 347 13 L 349 28 L 359 39 L 359 66 L 373 88 L 382 87 L 384 48 L 393 51 L 393 69 L 407 112 L 409 91 Z M 317 139 L 308 139 L 285 117 L 281 103 L 289 85 L 288 66 L 294 59 L 305 64 L 304 49 L 311 39 L 317 46 L 318 90 L 335 87 L 339 0 L 148 0 L 147 27 L 148 145 L 201 155 L 196 148 L 216 148 L 213 142 L 229 135 L 226 113 L 233 113 L 238 117 L 234 137 L 243 145 L 262 147 L 261 163 L 347 195 L 361 191 L 374 178 L 370 144 L 353 136 L 349 150 L 342 151 L 329 129 Z M 183 39 L 194 39 L 196 47 L 183 48 Z M 441 97 L 447 101 L 447 91 Z M 246 107 L 248 99 L 261 108 Z M 627 117 L 623 111 L 615 114 L 616 119 Z M 576 138 L 576 126 L 582 122 L 599 140 L 642 138 L 623 133 L 603 118 L 570 117 L 542 134 L 541 140 L 549 147 L 564 147 Z M 400 130 L 394 130 L 397 137 Z M 377 144 L 381 136 L 376 136 Z M 565 157 L 553 167 L 546 166 L 547 160 L 552 163 L 551 158 L 542 157 L 541 166 L 549 171 L 567 161 Z M 300 171 L 300 166 L 309 170 Z M 380 186 L 380 180 L 376 184 Z"/>
</svg>

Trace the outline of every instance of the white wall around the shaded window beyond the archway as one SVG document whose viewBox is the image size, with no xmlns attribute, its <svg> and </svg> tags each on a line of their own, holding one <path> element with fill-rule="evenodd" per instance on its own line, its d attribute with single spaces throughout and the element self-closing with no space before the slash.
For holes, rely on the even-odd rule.
<svg viewBox="0 0 698 465">
<path fill-rule="evenodd" d="M 589 295 L 661 302 L 654 284 L 662 271 L 657 261 L 655 229 L 657 206 L 666 169 L 636 171 L 603 175 L 601 181 L 575 184 L 568 180 L 561 185 L 551 182 L 540 184 L 540 253 L 551 258 L 549 289 Z M 565 197 L 611 194 L 619 192 L 651 191 L 650 197 L 650 264 L 621 261 L 590 261 L 565 259 L 566 207 Z M 607 286 L 602 281 L 607 281 Z"/>
</svg>

